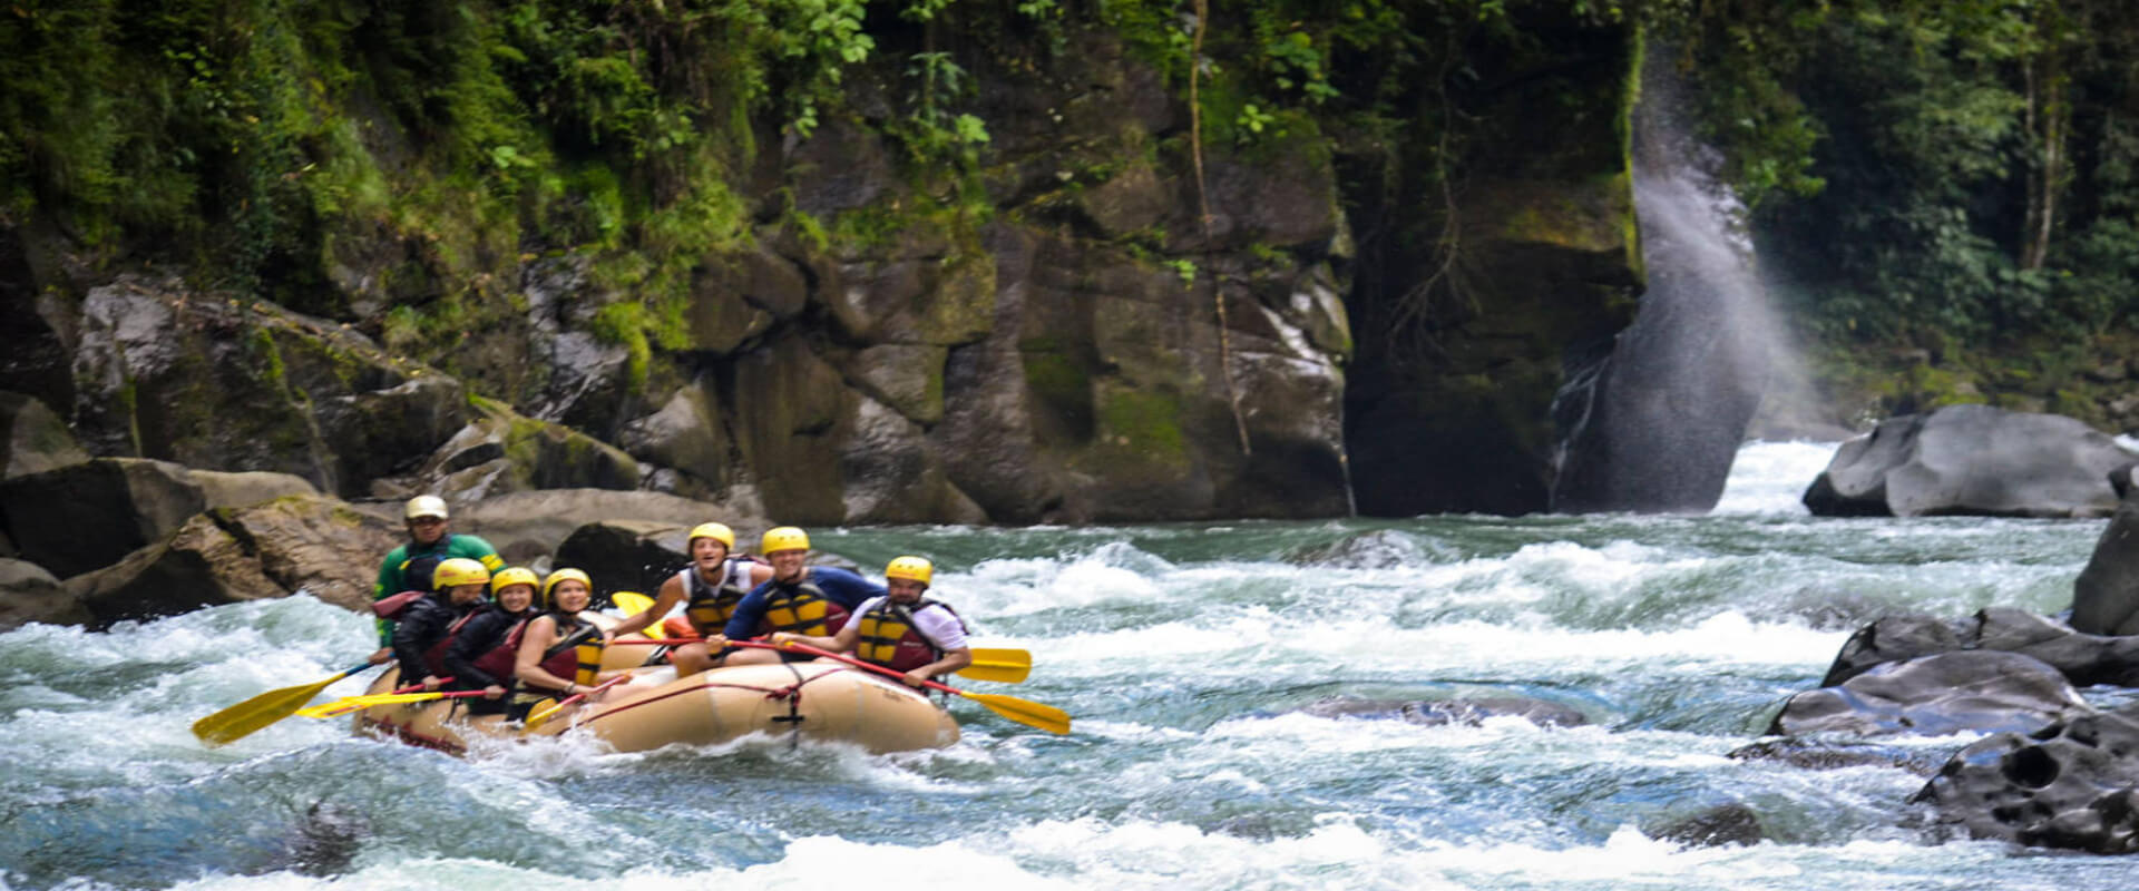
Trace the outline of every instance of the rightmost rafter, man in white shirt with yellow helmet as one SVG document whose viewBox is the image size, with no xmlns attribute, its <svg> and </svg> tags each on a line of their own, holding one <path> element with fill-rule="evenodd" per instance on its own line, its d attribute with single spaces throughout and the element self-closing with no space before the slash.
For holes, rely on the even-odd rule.
<svg viewBox="0 0 2139 891">
<path fill-rule="evenodd" d="M 776 632 L 772 643 L 853 650 L 856 658 L 905 673 L 909 686 L 965 669 L 973 665 L 965 620 L 948 605 L 924 596 L 933 575 L 935 566 L 924 558 L 896 558 L 883 566 L 888 594 L 862 600 L 838 635 Z"/>
</svg>

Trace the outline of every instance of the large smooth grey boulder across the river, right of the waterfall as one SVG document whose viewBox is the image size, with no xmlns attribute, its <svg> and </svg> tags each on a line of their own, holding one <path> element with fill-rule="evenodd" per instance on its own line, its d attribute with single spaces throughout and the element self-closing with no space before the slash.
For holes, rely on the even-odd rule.
<svg viewBox="0 0 2139 891">
<path fill-rule="evenodd" d="M 2107 479 L 2135 457 L 2058 415 L 1946 406 L 1882 421 L 1805 489 L 1822 517 L 2107 517 Z"/>
</svg>

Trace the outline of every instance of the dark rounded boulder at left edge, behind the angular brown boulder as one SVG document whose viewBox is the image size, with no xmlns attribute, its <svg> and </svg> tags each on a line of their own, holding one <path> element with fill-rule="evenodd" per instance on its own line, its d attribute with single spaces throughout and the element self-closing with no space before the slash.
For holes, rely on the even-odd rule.
<svg viewBox="0 0 2139 891">
<path fill-rule="evenodd" d="M 160 543 L 201 511 L 314 491 L 291 474 L 98 457 L 0 481 L 0 513 L 26 560 L 73 577 Z"/>
</svg>

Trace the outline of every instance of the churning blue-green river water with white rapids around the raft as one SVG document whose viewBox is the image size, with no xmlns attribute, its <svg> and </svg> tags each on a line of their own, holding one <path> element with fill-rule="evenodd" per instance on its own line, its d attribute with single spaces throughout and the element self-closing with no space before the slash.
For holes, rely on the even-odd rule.
<svg viewBox="0 0 2139 891">
<path fill-rule="evenodd" d="M 2100 521 L 1816 519 L 1827 444 L 1750 444 L 1709 517 L 813 530 L 939 564 L 1027 647 L 1052 737 L 871 756 L 751 739 L 460 761 L 291 718 L 188 724 L 327 677 L 370 622 L 308 596 L 0 635 L 0 889 L 2068 889 L 2128 859 L 1934 840 L 1893 767 L 1726 759 L 1891 609 L 2053 613 Z M 353 694 L 359 679 L 332 692 Z M 1532 697 L 1587 726 L 1318 718 L 1333 699 Z M 1912 739 L 1946 752 L 1968 739 Z M 1769 842 L 1643 833 L 1741 803 Z"/>
</svg>

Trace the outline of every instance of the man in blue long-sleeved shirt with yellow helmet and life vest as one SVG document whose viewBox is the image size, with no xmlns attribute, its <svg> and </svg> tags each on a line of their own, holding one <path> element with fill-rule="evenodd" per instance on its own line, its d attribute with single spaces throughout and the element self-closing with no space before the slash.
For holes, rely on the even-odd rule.
<svg viewBox="0 0 2139 891">
<path fill-rule="evenodd" d="M 772 579 L 751 588 L 727 618 L 725 637 L 744 641 L 772 632 L 826 637 L 836 635 L 847 624 L 862 600 L 883 596 L 881 585 L 832 566 L 804 566 L 809 558 L 809 534 L 794 526 L 766 530 L 759 545 L 772 564 Z M 776 650 L 736 650 L 721 665 L 751 662 L 802 662 L 815 656 Z"/>
</svg>

